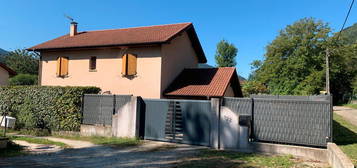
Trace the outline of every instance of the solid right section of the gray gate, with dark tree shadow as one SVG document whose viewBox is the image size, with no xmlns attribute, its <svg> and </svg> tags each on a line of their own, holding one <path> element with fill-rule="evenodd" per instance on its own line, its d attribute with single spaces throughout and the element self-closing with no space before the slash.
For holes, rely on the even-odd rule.
<svg viewBox="0 0 357 168">
<path fill-rule="evenodd" d="M 178 100 L 183 113 L 183 143 L 210 145 L 213 113 L 210 101 Z"/>
</svg>

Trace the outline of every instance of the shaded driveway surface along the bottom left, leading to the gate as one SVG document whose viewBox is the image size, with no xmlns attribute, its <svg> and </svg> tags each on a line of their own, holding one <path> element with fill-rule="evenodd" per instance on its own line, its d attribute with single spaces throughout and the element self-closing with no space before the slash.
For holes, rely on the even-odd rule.
<svg viewBox="0 0 357 168">
<path fill-rule="evenodd" d="M 0 167 L 173 167 L 180 158 L 194 155 L 203 148 L 205 147 L 160 142 L 121 149 L 94 146 L 65 149 L 51 154 L 0 158 Z"/>
</svg>

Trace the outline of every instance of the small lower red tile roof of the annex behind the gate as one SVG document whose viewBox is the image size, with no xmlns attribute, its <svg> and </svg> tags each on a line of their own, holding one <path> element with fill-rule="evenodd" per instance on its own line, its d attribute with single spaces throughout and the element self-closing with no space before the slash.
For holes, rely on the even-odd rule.
<svg viewBox="0 0 357 168">
<path fill-rule="evenodd" d="M 241 96 L 237 72 L 233 67 L 185 69 L 164 95 L 222 97 L 231 82 L 232 87 L 236 87 L 236 95 Z"/>
</svg>

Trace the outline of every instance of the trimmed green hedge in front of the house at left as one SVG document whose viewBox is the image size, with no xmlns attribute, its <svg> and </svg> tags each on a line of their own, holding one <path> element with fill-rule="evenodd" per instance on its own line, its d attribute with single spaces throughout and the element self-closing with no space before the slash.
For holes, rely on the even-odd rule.
<svg viewBox="0 0 357 168">
<path fill-rule="evenodd" d="M 97 94 L 96 87 L 0 87 L 0 113 L 10 112 L 17 129 L 78 131 L 83 94 Z"/>
</svg>

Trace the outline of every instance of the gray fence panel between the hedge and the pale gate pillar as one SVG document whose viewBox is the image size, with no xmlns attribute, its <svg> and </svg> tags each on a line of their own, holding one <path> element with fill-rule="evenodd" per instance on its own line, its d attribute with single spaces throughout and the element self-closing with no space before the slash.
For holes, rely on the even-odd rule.
<svg viewBox="0 0 357 168">
<path fill-rule="evenodd" d="M 131 95 L 85 94 L 83 97 L 83 124 L 112 125 L 112 116 L 130 102 Z"/>
</svg>

